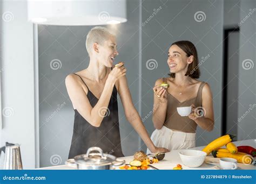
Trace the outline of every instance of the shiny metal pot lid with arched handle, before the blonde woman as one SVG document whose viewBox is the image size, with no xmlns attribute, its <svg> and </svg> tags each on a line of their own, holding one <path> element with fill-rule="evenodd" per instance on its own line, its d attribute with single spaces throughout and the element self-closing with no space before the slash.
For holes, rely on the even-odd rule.
<svg viewBox="0 0 256 184">
<path fill-rule="evenodd" d="M 98 151 L 98 153 L 91 153 L 92 151 Z M 103 166 L 111 165 L 116 160 L 116 157 L 103 153 L 99 147 L 90 147 L 86 154 L 77 155 L 74 159 L 77 164 Z"/>
</svg>

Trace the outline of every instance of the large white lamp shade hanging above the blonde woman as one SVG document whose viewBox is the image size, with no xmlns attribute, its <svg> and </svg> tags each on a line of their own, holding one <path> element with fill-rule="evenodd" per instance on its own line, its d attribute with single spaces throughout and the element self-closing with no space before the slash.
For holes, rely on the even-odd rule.
<svg viewBox="0 0 256 184">
<path fill-rule="evenodd" d="M 66 26 L 124 23 L 126 0 L 28 0 L 28 19 Z"/>
</svg>

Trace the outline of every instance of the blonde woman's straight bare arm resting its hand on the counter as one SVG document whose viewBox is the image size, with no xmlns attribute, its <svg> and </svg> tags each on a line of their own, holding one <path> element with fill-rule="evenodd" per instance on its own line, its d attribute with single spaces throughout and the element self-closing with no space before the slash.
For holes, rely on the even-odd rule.
<svg viewBox="0 0 256 184">
<path fill-rule="evenodd" d="M 153 153 L 169 151 L 165 148 L 158 148 L 154 146 L 152 140 L 149 137 L 149 134 L 147 133 L 147 130 L 144 124 L 142 123 L 142 120 L 140 119 L 140 116 L 137 110 L 134 108 L 130 90 L 127 84 L 126 76 L 120 77 L 118 83 L 119 83 L 118 94 L 120 96 L 120 99 L 124 107 L 125 116 L 127 120 L 131 123 L 133 128 L 138 132 L 139 136 L 142 138 L 146 146 Z"/>
</svg>

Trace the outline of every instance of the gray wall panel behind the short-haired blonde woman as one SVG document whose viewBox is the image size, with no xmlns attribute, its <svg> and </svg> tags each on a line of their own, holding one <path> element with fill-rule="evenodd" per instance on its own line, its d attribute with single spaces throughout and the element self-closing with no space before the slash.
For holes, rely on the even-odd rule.
<svg viewBox="0 0 256 184">
<path fill-rule="evenodd" d="M 109 26 L 117 34 L 119 55 L 125 61 L 133 102 L 139 101 L 139 1 L 127 1 L 128 21 Z M 40 167 L 64 164 L 68 159 L 74 111 L 65 87 L 65 76 L 85 69 L 89 58 L 85 49 L 91 26 L 38 26 Z M 57 61 L 57 60 L 59 61 Z M 52 61 L 54 60 L 54 61 Z M 61 64 L 51 69 L 50 63 Z M 127 122 L 118 96 L 120 135 L 125 155 L 138 150 L 138 134 Z M 49 118 L 49 116 L 51 118 Z"/>
</svg>

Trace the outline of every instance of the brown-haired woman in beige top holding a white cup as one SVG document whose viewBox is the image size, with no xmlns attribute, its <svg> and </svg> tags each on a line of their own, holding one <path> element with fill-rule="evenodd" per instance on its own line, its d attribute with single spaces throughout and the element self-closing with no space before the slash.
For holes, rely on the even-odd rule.
<svg viewBox="0 0 256 184">
<path fill-rule="evenodd" d="M 212 131 L 214 126 L 212 91 L 197 80 L 200 76 L 196 47 L 190 41 L 177 41 L 169 48 L 169 77 L 156 81 L 151 139 L 156 146 L 179 150 L 196 146 L 196 129 Z M 161 83 L 169 88 L 161 87 Z M 177 107 L 192 107 L 189 116 L 180 116 Z M 150 153 L 150 150 L 147 150 Z"/>
</svg>

